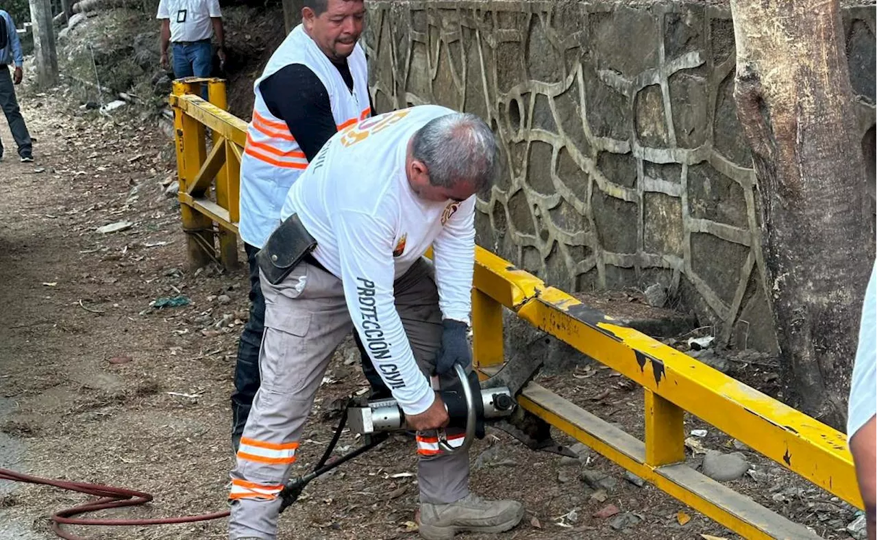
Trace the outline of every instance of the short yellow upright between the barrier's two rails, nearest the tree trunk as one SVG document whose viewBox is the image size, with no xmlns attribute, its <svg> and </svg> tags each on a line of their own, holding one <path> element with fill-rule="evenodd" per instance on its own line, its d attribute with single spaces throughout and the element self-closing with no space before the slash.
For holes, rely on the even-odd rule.
<svg viewBox="0 0 877 540">
<path fill-rule="evenodd" d="M 685 461 L 685 410 L 645 389 L 645 463 L 652 467 Z"/>
</svg>

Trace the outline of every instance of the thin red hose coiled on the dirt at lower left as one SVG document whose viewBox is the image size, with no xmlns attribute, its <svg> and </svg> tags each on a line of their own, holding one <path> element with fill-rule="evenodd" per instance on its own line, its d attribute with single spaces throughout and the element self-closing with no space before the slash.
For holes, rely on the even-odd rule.
<svg viewBox="0 0 877 540">
<path fill-rule="evenodd" d="M 212 514 L 188 515 L 186 517 L 165 517 L 159 519 L 81 519 L 74 515 L 81 515 L 107 508 L 122 508 L 139 506 L 153 500 L 151 494 L 124 489 L 122 487 L 101 486 L 99 484 L 86 484 L 84 482 L 67 482 L 63 480 L 47 480 L 29 474 L 16 473 L 8 469 L 0 469 L 0 480 L 12 480 L 27 482 L 28 484 L 42 484 L 45 486 L 61 487 L 76 491 L 81 494 L 89 494 L 100 497 L 97 501 L 86 502 L 74 508 L 68 508 L 55 512 L 52 515 L 52 530 L 61 538 L 67 540 L 88 540 L 82 536 L 75 536 L 61 529 L 61 524 L 67 525 L 169 525 L 173 523 L 206 522 L 211 519 L 219 519 L 229 515 L 229 511 L 214 512 Z"/>
</svg>

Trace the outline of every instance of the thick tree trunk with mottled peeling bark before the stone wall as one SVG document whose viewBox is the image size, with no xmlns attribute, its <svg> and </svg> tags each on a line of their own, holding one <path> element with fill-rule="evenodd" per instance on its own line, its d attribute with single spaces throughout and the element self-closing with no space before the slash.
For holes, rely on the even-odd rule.
<svg viewBox="0 0 877 540">
<path fill-rule="evenodd" d="M 838 0 L 731 0 L 731 13 L 788 396 L 840 428 L 873 245 Z"/>
</svg>

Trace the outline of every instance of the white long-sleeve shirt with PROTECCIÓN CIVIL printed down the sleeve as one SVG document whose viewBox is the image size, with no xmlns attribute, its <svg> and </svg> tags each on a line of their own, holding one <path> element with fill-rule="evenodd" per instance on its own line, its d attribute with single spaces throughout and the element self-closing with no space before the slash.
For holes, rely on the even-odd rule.
<svg viewBox="0 0 877 540">
<path fill-rule="evenodd" d="M 317 240 L 314 258 L 344 282 L 356 331 L 407 415 L 424 412 L 435 396 L 411 352 L 393 282 L 432 246 L 442 316 L 468 323 L 471 309 L 475 197 L 425 201 L 405 173 L 411 137 L 450 113 L 422 105 L 339 132 L 289 190 L 281 212 L 281 219 L 298 214 Z"/>
</svg>

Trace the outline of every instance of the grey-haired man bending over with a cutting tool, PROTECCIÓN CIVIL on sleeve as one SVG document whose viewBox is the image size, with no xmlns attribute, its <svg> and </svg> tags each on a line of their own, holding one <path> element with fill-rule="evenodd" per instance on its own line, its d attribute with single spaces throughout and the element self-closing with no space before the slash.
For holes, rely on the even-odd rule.
<svg viewBox="0 0 877 540">
<path fill-rule="evenodd" d="M 232 472 L 232 540 L 276 537 L 278 494 L 332 352 L 351 328 L 418 430 L 420 535 L 520 522 L 520 502 L 469 492 L 467 452 L 439 449 L 434 430 L 448 416 L 430 380 L 447 387 L 454 365 L 471 370 L 474 194 L 490 187 L 497 153 L 480 118 L 423 105 L 339 132 L 289 190 L 259 257 L 264 379 Z M 430 246 L 432 264 L 423 257 Z M 446 432 L 459 448 L 461 430 Z"/>
</svg>

